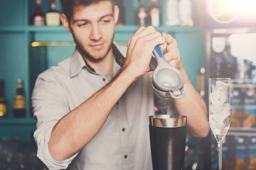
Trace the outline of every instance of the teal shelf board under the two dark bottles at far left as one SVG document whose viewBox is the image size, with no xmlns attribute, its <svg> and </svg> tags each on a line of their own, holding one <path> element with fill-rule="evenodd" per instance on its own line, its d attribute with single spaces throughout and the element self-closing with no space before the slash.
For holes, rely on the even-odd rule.
<svg viewBox="0 0 256 170">
<path fill-rule="evenodd" d="M 33 118 L 3 118 L 0 119 L 0 126 L 3 125 L 35 125 L 36 121 Z"/>
</svg>

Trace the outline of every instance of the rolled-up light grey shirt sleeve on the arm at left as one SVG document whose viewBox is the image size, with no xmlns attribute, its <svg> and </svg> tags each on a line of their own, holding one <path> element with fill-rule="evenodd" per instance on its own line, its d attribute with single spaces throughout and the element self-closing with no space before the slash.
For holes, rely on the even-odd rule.
<svg viewBox="0 0 256 170">
<path fill-rule="evenodd" d="M 38 76 L 32 93 L 32 108 L 34 118 L 37 120 L 34 138 L 38 146 L 38 158 L 49 170 L 67 169 L 78 153 L 70 159 L 55 161 L 48 149 L 52 128 L 70 112 L 64 88 L 54 74 L 44 72 Z"/>
</svg>

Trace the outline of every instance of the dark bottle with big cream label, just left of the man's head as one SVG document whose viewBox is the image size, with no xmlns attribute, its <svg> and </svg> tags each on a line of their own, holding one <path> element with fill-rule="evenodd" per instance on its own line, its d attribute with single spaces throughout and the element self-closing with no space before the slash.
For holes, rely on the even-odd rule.
<svg viewBox="0 0 256 170">
<path fill-rule="evenodd" d="M 51 8 L 45 14 L 47 26 L 59 26 L 61 23 L 61 14 L 56 10 L 56 0 L 51 1 Z"/>
</svg>

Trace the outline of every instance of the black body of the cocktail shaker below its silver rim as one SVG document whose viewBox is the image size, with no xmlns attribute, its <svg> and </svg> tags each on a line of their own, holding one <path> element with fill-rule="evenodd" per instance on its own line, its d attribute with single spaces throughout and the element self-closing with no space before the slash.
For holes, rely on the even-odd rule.
<svg viewBox="0 0 256 170">
<path fill-rule="evenodd" d="M 182 170 L 186 126 L 154 127 L 149 125 L 153 170 Z"/>
</svg>

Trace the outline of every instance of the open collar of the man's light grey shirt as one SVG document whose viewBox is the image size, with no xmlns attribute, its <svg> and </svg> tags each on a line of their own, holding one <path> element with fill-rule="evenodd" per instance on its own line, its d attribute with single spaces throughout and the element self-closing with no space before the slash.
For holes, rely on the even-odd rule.
<svg viewBox="0 0 256 170">
<path fill-rule="evenodd" d="M 126 51 L 123 51 L 115 41 L 112 44 L 112 50 L 115 56 L 115 61 L 113 66 L 114 68 L 117 68 L 116 67 L 116 63 L 117 63 L 119 68 L 121 68 L 125 62 Z M 87 67 L 87 69 L 90 72 L 95 73 L 95 70 L 91 68 L 90 65 L 87 64 L 87 62 L 85 62 L 85 60 L 83 59 L 83 57 L 81 56 L 81 54 L 76 48 L 70 58 L 70 77 L 75 77 L 77 74 L 80 73 L 80 71 L 84 67 Z M 119 71 L 119 69 L 114 69 L 114 68 L 113 68 L 113 74 L 116 74 Z"/>
</svg>

